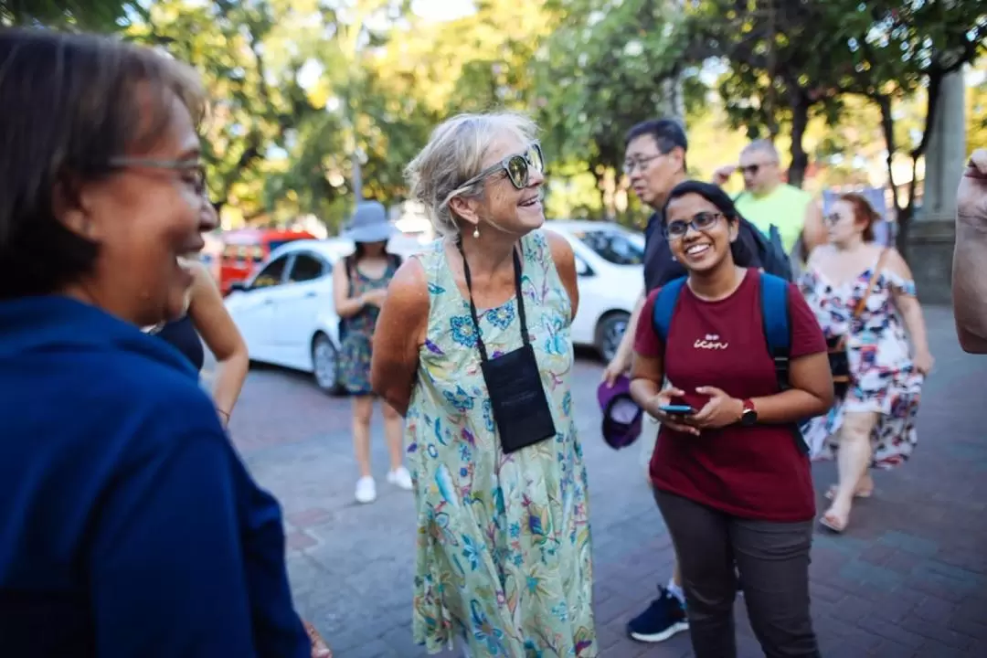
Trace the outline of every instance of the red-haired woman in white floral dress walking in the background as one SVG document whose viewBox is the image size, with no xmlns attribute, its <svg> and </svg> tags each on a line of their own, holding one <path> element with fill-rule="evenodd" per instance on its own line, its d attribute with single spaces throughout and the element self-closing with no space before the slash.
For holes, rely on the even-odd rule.
<svg viewBox="0 0 987 658">
<path fill-rule="evenodd" d="M 814 458 L 837 458 L 839 483 L 819 520 L 837 533 L 853 499 L 873 493 L 868 468 L 892 469 L 912 454 L 922 383 L 933 365 L 911 271 L 896 251 L 875 244 L 876 218 L 863 196 L 841 196 L 826 218 L 829 244 L 812 252 L 799 279 L 826 338 L 843 336 L 849 362 L 846 396 L 803 430 Z"/>
</svg>

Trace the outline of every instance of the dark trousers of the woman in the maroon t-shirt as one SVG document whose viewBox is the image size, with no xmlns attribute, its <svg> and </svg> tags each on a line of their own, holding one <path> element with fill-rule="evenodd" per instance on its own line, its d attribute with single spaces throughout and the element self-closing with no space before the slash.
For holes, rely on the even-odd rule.
<svg viewBox="0 0 987 658">
<path fill-rule="evenodd" d="M 747 615 L 767 658 L 819 648 L 809 615 L 812 522 L 751 521 L 655 490 L 682 573 L 696 658 L 735 658 L 737 572 Z"/>
</svg>

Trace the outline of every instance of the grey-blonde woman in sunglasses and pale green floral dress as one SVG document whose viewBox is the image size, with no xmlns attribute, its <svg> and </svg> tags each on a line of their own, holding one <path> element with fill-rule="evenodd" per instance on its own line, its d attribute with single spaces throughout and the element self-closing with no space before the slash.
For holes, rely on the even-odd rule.
<svg viewBox="0 0 987 658">
<path fill-rule="evenodd" d="M 475 658 L 598 655 L 569 383 L 569 243 L 545 231 L 535 126 L 449 119 L 408 168 L 442 238 L 398 270 L 371 382 L 407 418 L 418 506 L 413 629 Z"/>
</svg>

